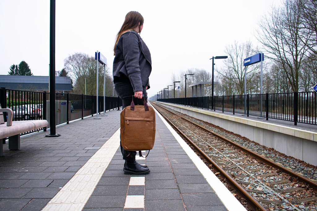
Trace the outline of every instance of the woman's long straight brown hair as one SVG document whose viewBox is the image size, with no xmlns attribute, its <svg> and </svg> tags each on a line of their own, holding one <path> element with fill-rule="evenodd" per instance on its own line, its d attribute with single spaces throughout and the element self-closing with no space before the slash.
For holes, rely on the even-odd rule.
<svg viewBox="0 0 317 211">
<path fill-rule="evenodd" d="M 120 31 L 117 34 L 116 43 L 114 44 L 113 48 L 113 55 L 116 55 L 116 45 L 119 41 L 121 35 L 129 30 L 133 30 L 137 27 L 143 25 L 144 18 L 143 16 L 137 11 L 130 11 L 126 14 L 126 19 L 124 20 Z"/>
</svg>

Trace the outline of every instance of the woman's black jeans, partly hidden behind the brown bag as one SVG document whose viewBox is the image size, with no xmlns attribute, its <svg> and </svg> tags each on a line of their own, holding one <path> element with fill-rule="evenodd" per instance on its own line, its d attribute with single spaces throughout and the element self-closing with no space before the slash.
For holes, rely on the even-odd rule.
<svg viewBox="0 0 317 211">
<path fill-rule="evenodd" d="M 116 83 L 114 84 L 114 90 L 116 91 L 117 95 L 122 99 L 122 109 L 131 105 L 132 99 L 135 105 L 143 105 L 143 99 L 132 97 L 134 96 L 134 92 L 131 84 Z M 143 95 L 145 100 L 147 101 L 147 93 L 145 87 L 143 87 Z M 121 146 L 121 144 L 120 148 L 124 160 L 135 160 L 135 155 L 137 154 L 137 152 L 127 151 Z"/>
</svg>

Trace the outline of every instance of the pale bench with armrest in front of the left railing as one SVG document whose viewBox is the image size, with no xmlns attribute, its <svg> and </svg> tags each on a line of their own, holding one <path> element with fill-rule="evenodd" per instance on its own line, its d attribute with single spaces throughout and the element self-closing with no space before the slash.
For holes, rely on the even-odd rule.
<svg viewBox="0 0 317 211">
<path fill-rule="evenodd" d="M 8 121 L 4 122 L 3 112 L 8 113 Z M 9 150 L 20 149 L 20 134 L 28 131 L 47 127 L 49 125 L 47 120 L 25 120 L 12 121 L 13 111 L 11 109 L 2 109 L 0 105 L 0 156 L 3 156 L 3 144 L 9 137 Z"/>
</svg>

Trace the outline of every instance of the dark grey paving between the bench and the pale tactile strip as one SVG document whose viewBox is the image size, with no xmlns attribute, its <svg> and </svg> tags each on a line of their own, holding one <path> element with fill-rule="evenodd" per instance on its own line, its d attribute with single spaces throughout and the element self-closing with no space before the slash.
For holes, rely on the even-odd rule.
<svg viewBox="0 0 317 211">
<path fill-rule="evenodd" d="M 70 122 L 21 137 L 21 150 L 3 145 L 0 157 L 0 210 L 41 210 L 120 127 L 120 112 Z M 15 204 L 16 206 L 12 206 Z"/>
</svg>

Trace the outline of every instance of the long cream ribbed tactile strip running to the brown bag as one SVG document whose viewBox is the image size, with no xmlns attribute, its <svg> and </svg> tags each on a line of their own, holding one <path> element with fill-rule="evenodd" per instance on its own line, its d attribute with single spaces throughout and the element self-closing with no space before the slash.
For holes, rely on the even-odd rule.
<svg viewBox="0 0 317 211">
<path fill-rule="evenodd" d="M 119 143 L 120 129 L 76 172 L 42 211 L 82 210 L 120 146 Z M 137 197 L 137 200 L 139 198 Z M 144 196 L 142 200 L 144 207 Z"/>
</svg>

